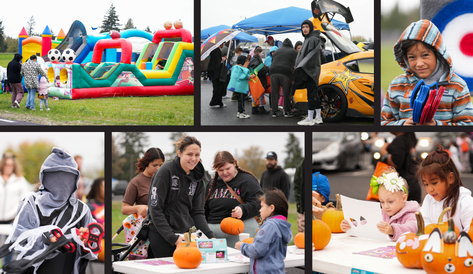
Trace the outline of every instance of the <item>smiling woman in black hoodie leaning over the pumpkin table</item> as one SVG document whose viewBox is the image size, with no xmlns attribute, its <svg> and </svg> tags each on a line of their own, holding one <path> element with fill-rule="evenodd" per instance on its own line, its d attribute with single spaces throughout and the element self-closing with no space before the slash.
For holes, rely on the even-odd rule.
<svg viewBox="0 0 473 274">
<path fill-rule="evenodd" d="M 151 178 L 148 194 L 148 239 L 155 258 L 172 257 L 184 238 L 176 234 L 194 225 L 214 238 L 204 215 L 205 170 L 200 162 L 201 144 L 193 136 L 179 138 L 177 156 L 164 163 Z"/>
</svg>

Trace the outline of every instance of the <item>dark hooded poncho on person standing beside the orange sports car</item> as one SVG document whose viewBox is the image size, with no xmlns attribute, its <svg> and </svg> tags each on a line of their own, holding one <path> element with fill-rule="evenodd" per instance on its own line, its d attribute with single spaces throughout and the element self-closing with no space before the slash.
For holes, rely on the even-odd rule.
<svg viewBox="0 0 473 274">
<path fill-rule="evenodd" d="M 322 50 L 320 30 L 314 30 L 314 24 L 310 20 L 305 20 L 302 22 L 303 24 L 309 24 L 310 30 L 307 35 L 302 33 L 304 43 L 297 54 L 296 69 L 292 75 L 292 81 L 298 82 L 296 86 L 299 86 L 300 82 L 305 82 L 307 77 L 311 77 L 318 86 L 321 66 L 320 51 Z"/>
</svg>

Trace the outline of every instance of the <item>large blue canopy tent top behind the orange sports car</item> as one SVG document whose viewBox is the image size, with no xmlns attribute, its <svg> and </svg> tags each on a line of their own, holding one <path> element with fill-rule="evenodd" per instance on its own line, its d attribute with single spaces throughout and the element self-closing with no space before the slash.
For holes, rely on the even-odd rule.
<svg viewBox="0 0 473 274">
<path fill-rule="evenodd" d="M 311 17 L 311 10 L 290 6 L 246 18 L 234 24 L 232 28 L 254 34 L 262 34 L 264 36 L 290 32 L 301 32 L 302 22 Z M 350 32 L 350 27 L 347 23 L 332 19 L 332 24 L 338 29 L 346 29 Z M 351 36 L 352 34 L 350 33 L 350 37 Z"/>
</svg>

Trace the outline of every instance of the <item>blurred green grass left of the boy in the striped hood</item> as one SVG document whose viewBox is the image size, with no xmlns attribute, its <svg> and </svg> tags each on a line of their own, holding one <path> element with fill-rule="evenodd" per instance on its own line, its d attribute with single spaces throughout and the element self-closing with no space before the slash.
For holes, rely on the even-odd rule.
<svg viewBox="0 0 473 274">
<path fill-rule="evenodd" d="M 381 88 L 387 92 L 389 84 L 397 76 L 404 73 L 394 59 L 392 48 L 395 42 L 381 44 Z"/>
</svg>

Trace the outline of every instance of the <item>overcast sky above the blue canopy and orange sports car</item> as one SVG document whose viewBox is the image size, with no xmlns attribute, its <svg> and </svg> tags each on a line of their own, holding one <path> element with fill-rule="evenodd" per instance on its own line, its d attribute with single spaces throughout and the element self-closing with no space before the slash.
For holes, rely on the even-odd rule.
<svg viewBox="0 0 473 274">
<path fill-rule="evenodd" d="M 385 0 L 386 1 L 386 0 Z M 350 7 L 354 21 L 350 23 L 352 36 L 363 35 L 366 39 L 374 39 L 374 2 L 373 0 L 337 0 L 344 6 Z M 202 0 L 201 1 L 201 29 L 206 29 L 218 25 L 233 26 L 245 17 L 252 17 L 264 12 L 289 6 L 311 9 L 311 0 L 290 1 L 290 0 L 271 0 L 252 5 L 250 2 L 238 4 L 233 0 Z M 227 7 L 226 7 L 227 6 Z M 309 18 L 304 18 L 309 19 Z M 340 14 L 335 14 L 334 19 L 345 22 L 345 18 Z M 348 30 L 344 34 L 350 37 Z M 256 35 L 263 37 L 263 35 Z M 303 41 L 301 33 L 287 33 L 272 35 L 276 40 L 283 41 L 289 38 L 292 44 L 297 41 Z"/>
</svg>

